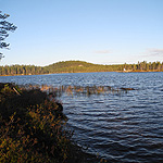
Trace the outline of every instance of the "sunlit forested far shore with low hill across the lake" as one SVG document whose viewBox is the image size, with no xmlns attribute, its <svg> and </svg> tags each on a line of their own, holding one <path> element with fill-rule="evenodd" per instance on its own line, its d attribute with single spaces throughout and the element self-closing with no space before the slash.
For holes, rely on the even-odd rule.
<svg viewBox="0 0 163 163">
<path fill-rule="evenodd" d="M 54 73 L 84 73 L 84 72 L 162 72 L 163 62 L 138 62 L 137 64 L 102 65 L 84 61 L 63 61 L 48 66 L 35 65 L 5 65 L 0 66 L 0 75 L 38 75 Z"/>
</svg>

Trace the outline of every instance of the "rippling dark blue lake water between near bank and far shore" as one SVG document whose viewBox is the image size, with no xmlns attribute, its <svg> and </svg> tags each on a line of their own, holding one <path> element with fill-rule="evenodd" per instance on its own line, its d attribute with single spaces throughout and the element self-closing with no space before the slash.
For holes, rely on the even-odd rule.
<svg viewBox="0 0 163 163">
<path fill-rule="evenodd" d="M 68 96 L 59 99 L 85 151 L 111 162 L 163 162 L 163 73 L 74 73 L 0 76 L 18 85 L 111 86 L 127 92 Z"/>
</svg>

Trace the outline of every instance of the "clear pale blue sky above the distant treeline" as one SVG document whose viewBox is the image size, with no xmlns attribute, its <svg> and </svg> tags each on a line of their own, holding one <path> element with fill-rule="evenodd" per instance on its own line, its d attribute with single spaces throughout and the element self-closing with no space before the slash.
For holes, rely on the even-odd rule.
<svg viewBox="0 0 163 163">
<path fill-rule="evenodd" d="M 163 0 L 0 0 L 17 29 L 0 65 L 163 61 Z"/>
</svg>

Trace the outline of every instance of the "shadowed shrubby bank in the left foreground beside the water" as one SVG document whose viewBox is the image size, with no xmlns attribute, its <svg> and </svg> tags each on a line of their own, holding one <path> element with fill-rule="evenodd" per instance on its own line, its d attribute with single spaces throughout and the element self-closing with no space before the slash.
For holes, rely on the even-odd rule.
<svg viewBox="0 0 163 163">
<path fill-rule="evenodd" d="M 106 162 L 72 141 L 54 93 L 0 83 L 0 162 Z"/>
</svg>

